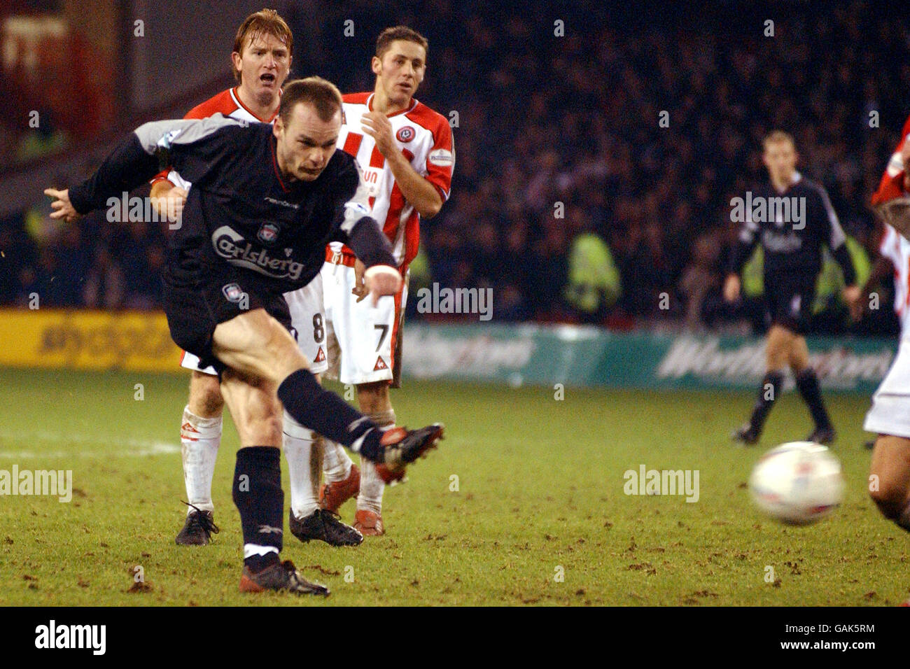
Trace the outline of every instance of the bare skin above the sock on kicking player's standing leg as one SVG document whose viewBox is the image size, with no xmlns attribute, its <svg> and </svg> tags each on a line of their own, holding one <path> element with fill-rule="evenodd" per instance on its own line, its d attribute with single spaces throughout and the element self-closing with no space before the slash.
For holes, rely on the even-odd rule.
<svg viewBox="0 0 910 669">
<path fill-rule="evenodd" d="M 273 381 L 227 369 L 221 390 L 241 446 L 281 445 L 282 409 Z"/>
</svg>

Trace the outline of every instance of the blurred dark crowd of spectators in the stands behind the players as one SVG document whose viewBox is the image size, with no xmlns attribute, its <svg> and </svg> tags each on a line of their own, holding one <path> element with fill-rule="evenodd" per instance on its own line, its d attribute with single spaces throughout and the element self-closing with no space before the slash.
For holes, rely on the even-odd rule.
<svg viewBox="0 0 910 669">
<path fill-rule="evenodd" d="M 757 308 L 723 304 L 720 287 L 738 228 L 730 199 L 766 178 L 773 128 L 796 138 L 799 169 L 828 189 L 854 255 L 875 255 L 868 198 L 910 113 L 904 21 L 862 2 L 672 15 L 648 3 L 453 5 L 284 10 L 293 75 L 342 91 L 372 86 L 372 40 L 389 16 L 430 39 L 418 98 L 452 119 L 457 160 L 450 201 L 421 224 L 412 291 L 490 287 L 498 320 L 761 328 Z M 327 46 L 349 18 L 362 55 L 338 58 Z M 0 301 L 36 291 L 42 304 L 157 305 L 162 231 L 103 218 L 57 227 L 44 207 L 36 198 L 0 222 Z M 854 324 L 830 297 L 826 330 L 894 328 L 889 309 Z"/>
</svg>

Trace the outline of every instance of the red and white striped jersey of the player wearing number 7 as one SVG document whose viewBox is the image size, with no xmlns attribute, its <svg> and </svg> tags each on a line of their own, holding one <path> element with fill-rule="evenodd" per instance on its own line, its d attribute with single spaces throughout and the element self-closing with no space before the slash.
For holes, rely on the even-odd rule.
<svg viewBox="0 0 910 669">
<path fill-rule="evenodd" d="M 408 202 L 376 142 L 364 134 L 360 117 L 372 111 L 372 93 L 342 96 L 344 123 L 338 147 L 357 158 L 369 188 L 371 216 L 379 221 L 392 243 L 399 267 L 407 266 L 417 255 L 420 245 L 420 214 Z M 440 192 L 442 201 L 449 199 L 455 149 L 449 121 L 416 99 L 410 107 L 389 115 L 395 144 L 408 158 L 410 166 L 430 181 Z M 350 253 L 349 248 L 343 249 Z M 327 254 L 330 259 L 330 251 Z"/>
</svg>

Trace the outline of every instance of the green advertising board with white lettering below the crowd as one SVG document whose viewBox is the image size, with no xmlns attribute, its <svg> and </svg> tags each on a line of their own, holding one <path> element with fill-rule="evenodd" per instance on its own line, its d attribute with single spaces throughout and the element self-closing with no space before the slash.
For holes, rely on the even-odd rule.
<svg viewBox="0 0 910 669">
<path fill-rule="evenodd" d="M 612 388 L 753 389 L 764 374 L 763 340 L 752 337 L 620 333 L 590 326 L 429 325 L 404 330 L 412 378 Z M 871 394 L 896 340 L 809 338 L 826 389 Z"/>
</svg>

